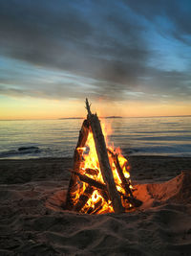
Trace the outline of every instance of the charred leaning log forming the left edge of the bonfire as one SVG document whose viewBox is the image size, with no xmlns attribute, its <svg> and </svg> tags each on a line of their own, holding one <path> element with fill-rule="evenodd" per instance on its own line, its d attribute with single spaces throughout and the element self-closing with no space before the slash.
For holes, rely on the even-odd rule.
<svg viewBox="0 0 191 256">
<path fill-rule="evenodd" d="M 82 160 L 82 151 L 79 151 L 78 148 L 83 148 L 85 146 L 88 138 L 88 134 L 89 134 L 89 123 L 87 120 L 84 120 L 82 127 L 79 131 L 77 145 L 74 150 L 74 171 L 75 172 L 79 172 L 80 162 Z M 67 192 L 66 205 L 65 205 L 66 209 L 68 210 L 71 210 L 73 208 L 71 190 L 75 185 L 76 185 L 76 176 L 72 174 L 70 183 L 69 183 L 68 192 Z"/>
</svg>

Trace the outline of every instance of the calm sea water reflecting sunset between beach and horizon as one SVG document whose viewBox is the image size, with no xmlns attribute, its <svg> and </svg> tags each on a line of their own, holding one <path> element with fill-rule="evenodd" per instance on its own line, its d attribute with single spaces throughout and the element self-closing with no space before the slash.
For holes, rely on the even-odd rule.
<svg viewBox="0 0 191 256">
<path fill-rule="evenodd" d="M 82 121 L 0 121 L 0 158 L 73 156 Z M 110 140 L 125 154 L 191 156 L 191 117 L 106 122 L 113 129 Z M 26 149 L 19 150 L 21 147 Z"/>
</svg>

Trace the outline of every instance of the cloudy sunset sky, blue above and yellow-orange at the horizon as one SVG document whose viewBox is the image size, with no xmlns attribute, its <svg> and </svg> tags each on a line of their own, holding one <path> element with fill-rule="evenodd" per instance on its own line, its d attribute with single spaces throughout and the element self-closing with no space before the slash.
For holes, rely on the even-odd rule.
<svg viewBox="0 0 191 256">
<path fill-rule="evenodd" d="M 190 0 L 0 0 L 0 119 L 191 114 Z"/>
</svg>

